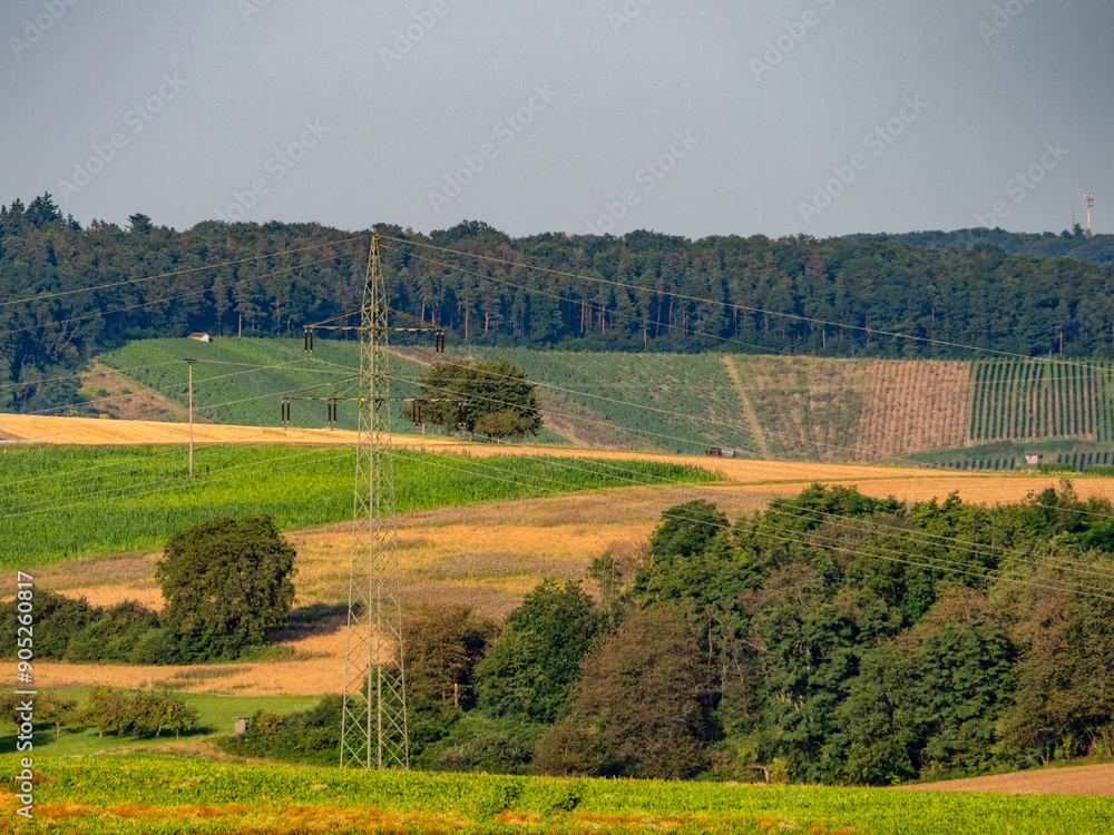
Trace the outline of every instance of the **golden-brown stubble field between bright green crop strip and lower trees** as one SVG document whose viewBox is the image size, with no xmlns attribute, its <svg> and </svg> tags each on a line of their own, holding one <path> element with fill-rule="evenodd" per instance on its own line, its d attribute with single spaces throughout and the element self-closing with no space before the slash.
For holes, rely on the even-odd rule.
<svg viewBox="0 0 1114 835">
<path fill-rule="evenodd" d="M 470 606 L 487 617 L 501 618 L 543 577 L 583 577 L 593 558 L 608 548 L 619 557 L 633 557 L 664 508 L 698 495 L 706 493 L 690 488 L 631 488 L 584 498 L 527 499 L 402 514 L 398 530 L 403 601 L 416 605 L 426 599 Z M 756 509 L 772 495 L 769 490 L 754 488 L 716 501 L 737 515 Z M 346 600 L 351 525 L 299 531 L 289 539 L 297 551 L 295 606 Z M 84 595 L 99 606 L 139 599 L 159 608 L 162 600 L 154 580 L 159 557 L 152 554 L 141 561 L 134 556 L 79 560 L 45 568 L 37 572 L 36 581 L 43 589 L 74 597 Z M 211 667 L 39 661 L 36 681 L 43 687 L 109 684 L 134 688 L 144 682 L 174 680 L 176 689 L 198 692 L 331 692 L 338 689 L 344 657 L 342 621 L 334 618 L 312 628 L 287 630 L 280 641 L 295 651 L 293 660 L 238 662 L 228 675 L 188 676 L 190 669 L 204 674 Z"/>
</svg>

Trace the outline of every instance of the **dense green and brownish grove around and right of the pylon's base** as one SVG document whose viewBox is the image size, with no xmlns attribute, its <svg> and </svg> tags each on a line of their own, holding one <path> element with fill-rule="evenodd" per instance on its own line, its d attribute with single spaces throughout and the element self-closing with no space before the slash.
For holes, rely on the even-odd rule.
<svg viewBox="0 0 1114 835">
<path fill-rule="evenodd" d="M 665 511 L 641 557 L 497 628 L 407 623 L 421 768 L 888 784 L 1114 756 L 1114 508 L 814 485 L 733 525 Z M 338 762 L 340 700 L 229 750 Z"/>
</svg>

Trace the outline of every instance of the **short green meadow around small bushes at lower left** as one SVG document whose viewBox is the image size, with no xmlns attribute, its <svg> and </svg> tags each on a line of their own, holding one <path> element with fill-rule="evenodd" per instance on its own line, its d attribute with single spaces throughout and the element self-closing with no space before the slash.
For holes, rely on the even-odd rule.
<svg viewBox="0 0 1114 835">
<path fill-rule="evenodd" d="M 234 670 L 237 665 L 226 665 L 228 670 Z M 219 669 L 219 667 L 206 667 L 205 669 Z M 159 674 L 165 675 L 166 670 L 152 670 L 153 684 L 157 681 Z M 251 716 L 256 710 L 274 710 L 278 714 L 292 714 L 299 710 L 307 710 L 319 701 L 320 696 L 225 696 L 212 692 L 180 692 L 174 690 L 175 679 L 166 680 L 165 685 L 169 692 L 182 697 L 187 705 L 196 708 L 198 714 L 198 729 L 184 736 L 184 739 L 211 739 L 217 736 L 228 736 L 233 733 L 233 721 L 237 716 Z M 163 684 L 158 684 L 159 689 Z M 91 687 L 53 687 L 52 694 L 69 699 L 76 699 L 78 707 L 85 703 Z M 3 717 L 0 721 L 0 754 L 10 754 L 16 750 L 14 726 L 10 717 Z M 52 723 L 42 723 L 36 726 L 35 749 L 39 754 L 50 756 L 87 756 L 100 754 L 108 750 L 127 750 L 133 748 L 146 748 L 152 745 L 165 745 L 174 741 L 174 734 L 158 737 L 152 736 L 118 737 L 115 733 L 99 736 L 95 727 L 81 728 L 78 726 L 62 726 L 60 737 L 56 737 L 56 729 Z"/>
</svg>

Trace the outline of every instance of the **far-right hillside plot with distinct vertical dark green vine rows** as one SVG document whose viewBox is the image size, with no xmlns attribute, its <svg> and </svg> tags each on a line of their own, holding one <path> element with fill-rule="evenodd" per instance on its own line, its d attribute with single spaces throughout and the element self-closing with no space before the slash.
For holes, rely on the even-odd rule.
<svg viewBox="0 0 1114 835">
<path fill-rule="evenodd" d="M 968 435 L 1004 439 L 1114 440 L 1112 369 L 1096 363 L 1026 360 L 973 363 Z"/>
</svg>

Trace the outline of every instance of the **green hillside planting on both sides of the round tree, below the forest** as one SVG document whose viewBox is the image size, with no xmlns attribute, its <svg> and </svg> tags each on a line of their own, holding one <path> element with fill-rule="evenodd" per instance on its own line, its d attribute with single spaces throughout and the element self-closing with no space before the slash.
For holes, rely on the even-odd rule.
<svg viewBox="0 0 1114 835">
<path fill-rule="evenodd" d="M 715 355 L 517 348 L 482 348 L 476 353 L 485 358 L 506 356 L 521 365 L 531 380 L 567 389 L 555 392 L 543 387 L 541 396 L 551 410 L 570 415 L 567 423 L 579 435 L 670 452 L 694 453 L 707 446 L 753 450 L 750 431 L 739 414 L 739 397 Z M 312 357 L 305 356 L 301 340 L 222 338 L 208 344 L 196 340 L 141 340 L 98 357 L 183 405 L 187 397 L 185 358 L 197 361 L 194 405 L 202 419 L 274 426 L 280 423 L 282 394 L 352 374 L 359 366 L 360 353 L 354 342 L 330 340 L 317 340 Z M 443 358 L 460 361 L 457 355 Z M 391 374 L 404 380 L 418 380 L 426 371 L 421 363 L 398 354 L 390 362 Z M 693 409 L 694 402 L 700 403 L 698 409 Z M 393 431 L 413 431 L 401 406 L 394 410 L 393 418 Z M 324 405 L 294 401 L 291 423 L 323 426 Z M 338 425 L 355 428 L 351 404 L 340 404 Z M 553 429 L 543 430 L 538 440 L 567 442 Z"/>
</svg>

